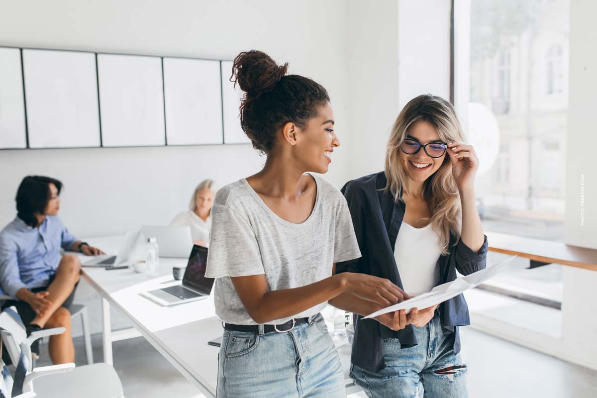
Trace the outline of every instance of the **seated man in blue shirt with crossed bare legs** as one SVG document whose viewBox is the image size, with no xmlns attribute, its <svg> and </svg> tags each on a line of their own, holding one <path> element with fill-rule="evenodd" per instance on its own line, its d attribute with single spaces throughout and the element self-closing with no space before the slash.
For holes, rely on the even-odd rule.
<svg viewBox="0 0 597 398">
<path fill-rule="evenodd" d="M 61 188 L 62 183 L 54 178 L 25 177 L 17 190 L 17 217 L 0 232 L 0 287 L 13 299 L 2 307 L 17 307 L 27 334 L 66 328 L 50 338 L 50 358 L 55 364 L 75 362 L 67 308 L 81 274 L 79 258 L 60 257 L 60 249 L 103 254 L 76 239 L 57 217 Z"/>
</svg>

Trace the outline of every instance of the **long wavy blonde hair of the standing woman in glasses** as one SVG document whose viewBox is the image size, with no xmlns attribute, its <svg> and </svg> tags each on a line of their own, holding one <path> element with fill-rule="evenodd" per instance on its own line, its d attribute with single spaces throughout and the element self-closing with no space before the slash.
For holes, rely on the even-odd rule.
<svg viewBox="0 0 597 398">
<path fill-rule="evenodd" d="M 405 184 L 406 172 L 399 161 L 400 146 L 407 137 L 408 129 L 418 121 L 429 122 L 439 139 L 445 143 L 464 141 L 458 116 L 451 103 L 430 94 L 419 95 L 410 100 L 398 115 L 387 143 L 385 189 L 396 202 L 402 200 L 403 190 L 409 193 Z M 424 221 L 429 221 L 432 229 L 438 233 L 442 252 L 448 254 L 450 235 L 456 236 L 458 242 L 462 223 L 460 196 L 448 154 L 439 169 L 424 181 L 423 199 L 431 212 L 431 218 L 425 218 Z"/>
</svg>

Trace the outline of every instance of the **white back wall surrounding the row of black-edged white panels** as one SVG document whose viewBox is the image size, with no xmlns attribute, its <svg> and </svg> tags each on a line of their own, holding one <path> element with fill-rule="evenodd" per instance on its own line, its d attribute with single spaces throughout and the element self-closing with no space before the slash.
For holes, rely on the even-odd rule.
<svg viewBox="0 0 597 398">
<path fill-rule="evenodd" d="M 0 46 L 220 59 L 256 48 L 327 88 L 343 140 L 345 10 L 341 0 L 10 2 L 0 13 Z M 340 186 L 347 156 L 335 151 L 326 175 Z M 14 218 L 14 194 L 27 174 L 63 181 L 60 217 L 77 236 L 99 236 L 167 223 L 202 179 L 227 184 L 263 162 L 250 145 L 2 151 L 0 226 Z"/>
</svg>

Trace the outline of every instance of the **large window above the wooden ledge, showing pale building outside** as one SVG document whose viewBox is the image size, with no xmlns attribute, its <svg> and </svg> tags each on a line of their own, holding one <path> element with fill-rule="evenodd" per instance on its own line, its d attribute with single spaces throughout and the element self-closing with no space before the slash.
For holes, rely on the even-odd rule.
<svg viewBox="0 0 597 398">
<path fill-rule="evenodd" d="M 453 4 L 453 98 L 484 228 L 562 241 L 570 0 Z"/>
</svg>

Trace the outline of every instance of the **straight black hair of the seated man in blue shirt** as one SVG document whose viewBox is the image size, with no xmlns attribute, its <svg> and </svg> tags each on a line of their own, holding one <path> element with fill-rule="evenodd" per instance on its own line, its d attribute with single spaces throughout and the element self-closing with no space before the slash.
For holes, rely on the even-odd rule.
<svg viewBox="0 0 597 398">
<path fill-rule="evenodd" d="M 41 175 L 27 175 L 17 189 L 17 215 L 30 227 L 36 227 L 35 214 L 44 214 L 50 201 L 50 184 L 54 184 L 60 195 L 62 183 L 55 178 Z"/>
</svg>

